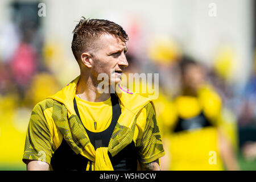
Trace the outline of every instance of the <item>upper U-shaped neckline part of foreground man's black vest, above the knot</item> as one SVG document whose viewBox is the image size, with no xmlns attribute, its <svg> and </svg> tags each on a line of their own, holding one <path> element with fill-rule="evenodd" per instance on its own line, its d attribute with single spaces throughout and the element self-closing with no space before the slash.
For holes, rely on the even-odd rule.
<svg viewBox="0 0 256 182">
<path fill-rule="evenodd" d="M 86 130 L 86 133 L 88 134 L 90 143 L 93 144 L 95 150 L 99 147 L 108 147 L 109 140 L 112 137 L 112 133 L 114 131 L 115 125 L 117 125 L 118 118 L 121 115 L 121 108 L 119 105 L 118 97 L 115 96 L 114 93 L 110 94 L 110 97 L 112 102 L 112 121 L 108 129 L 101 131 L 99 133 L 94 133 L 86 129 L 84 124 L 82 124 Z M 74 109 L 76 111 L 76 115 L 79 117 L 81 121 L 79 110 L 77 109 L 76 98 L 74 98 L 73 102 L 74 102 Z M 99 114 L 105 114 L 105 113 L 99 113 Z"/>
</svg>

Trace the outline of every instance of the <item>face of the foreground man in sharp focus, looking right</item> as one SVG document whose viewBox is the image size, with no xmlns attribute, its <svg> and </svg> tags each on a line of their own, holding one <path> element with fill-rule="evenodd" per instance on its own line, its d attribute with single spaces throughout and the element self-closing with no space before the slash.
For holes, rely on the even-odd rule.
<svg viewBox="0 0 256 182">
<path fill-rule="evenodd" d="M 106 73 L 117 84 L 121 81 L 122 72 L 128 66 L 125 53 L 126 43 L 113 35 L 104 34 L 97 40 L 93 53 L 92 73 L 97 78 L 100 73 Z M 110 69 L 112 72 L 110 72 Z"/>
</svg>

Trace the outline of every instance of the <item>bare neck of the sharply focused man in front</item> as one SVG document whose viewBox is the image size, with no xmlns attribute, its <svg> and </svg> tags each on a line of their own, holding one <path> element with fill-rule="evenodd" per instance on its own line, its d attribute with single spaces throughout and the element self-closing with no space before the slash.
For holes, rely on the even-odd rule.
<svg viewBox="0 0 256 182">
<path fill-rule="evenodd" d="M 99 93 L 97 82 L 92 77 L 81 75 L 77 84 L 76 95 L 89 102 L 102 102 L 108 100 L 110 93 Z"/>
</svg>

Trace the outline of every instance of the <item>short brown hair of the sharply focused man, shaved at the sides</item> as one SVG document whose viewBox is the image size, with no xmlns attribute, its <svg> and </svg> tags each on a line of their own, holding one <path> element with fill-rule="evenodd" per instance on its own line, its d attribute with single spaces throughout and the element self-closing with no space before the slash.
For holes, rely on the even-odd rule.
<svg viewBox="0 0 256 182">
<path fill-rule="evenodd" d="M 80 55 L 84 51 L 89 51 L 93 47 L 93 42 L 103 34 L 114 35 L 116 38 L 127 42 L 128 35 L 118 24 L 105 19 L 86 19 L 84 16 L 73 30 L 72 52 L 76 60 L 80 60 Z"/>
</svg>

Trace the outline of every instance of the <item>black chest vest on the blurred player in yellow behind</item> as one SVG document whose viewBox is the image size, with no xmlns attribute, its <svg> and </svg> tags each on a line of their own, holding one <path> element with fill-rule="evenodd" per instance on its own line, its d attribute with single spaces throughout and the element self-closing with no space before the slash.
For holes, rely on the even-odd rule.
<svg viewBox="0 0 256 182">
<path fill-rule="evenodd" d="M 189 131 L 200 129 L 203 127 L 213 126 L 212 123 L 205 117 L 203 111 L 193 118 L 181 118 L 179 117 L 173 132 Z"/>
</svg>

